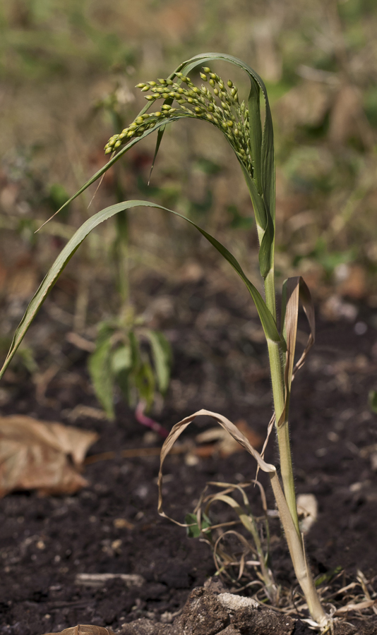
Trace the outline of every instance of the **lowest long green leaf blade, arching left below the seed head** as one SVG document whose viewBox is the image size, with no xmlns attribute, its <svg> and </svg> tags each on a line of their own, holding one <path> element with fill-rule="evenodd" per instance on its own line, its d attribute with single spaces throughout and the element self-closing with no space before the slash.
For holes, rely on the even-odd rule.
<svg viewBox="0 0 377 635">
<path fill-rule="evenodd" d="M 49 293 L 49 291 L 51 291 L 56 280 L 59 278 L 59 275 L 64 270 L 64 267 L 66 267 L 69 260 L 71 260 L 73 254 L 76 252 L 76 249 L 78 249 L 80 244 L 83 242 L 86 236 L 90 234 L 90 231 L 92 231 L 92 229 L 95 229 L 95 227 L 97 227 L 99 224 L 113 217 L 118 212 L 121 212 L 122 210 L 128 210 L 131 207 L 155 207 L 159 210 L 172 212 L 172 214 L 175 214 L 176 216 L 183 218 L 184 220 L 189 222 L 191 225 L 196 227 L 196 229 L 198 229 L 198 231 L 200 231 L 201 234 L 205 238 L 207 238 L 207 240 L 217 249 L 217 251 L 221 253 L 221 255 L 225 258 L 225 260 L 227 260 L 229 264 L 232 265 L 234 271 L 236 271 L 237 274 L 239 274 L 239 277 L 241 277 L 241 279 L 244 281 L 244 284 L 246 284 L 246 287 L 249 290 L 249 293 L 251 294 L 251 297 L 253 298 L 253 301 L 258 310 L 259 317 L 261 318 L 261 323 L 263 326 L 263 330 L 265 332 L 265 336 L 268 339 L 273 341 L 277 341 L 277 342 L 282 341 L 280 334 L 277 331 L 277 327 L 276 327 L 276 323 L 273 318 L 273 315 L 271 315 L 270 310 L 267 308 L 265 301 L 263 300 L 258 289 L 256 289 L 256 287 L 246 277 L 246 275 L 244 274 L 244 271 L 241 268 L 241 265 L 239 265 L 239 262 L 236 260 L 236 258 L 234 258 L 234 255 L 232 255 L 232 253 L 230 253 L 227 250 L 227 248 L 222 245 L 222 243 L 217 241 L 216 238 L 208 234 L 207 231 L 202 229 L 196 223 L 186 218 L 182 214 L 179 214 L 178 212 L 174 212 L 173 210 L 168 210 L 167 207 L 162 207 L 162 205 L 157 205 L 157 203 L 150 202 L 147 200 L 128 200 L 125 202 L 116 203 L 116 205 L 111 205 L 110 207 L 106 207 L 104 210 L 101 210 L 100 212 L 97 212 L 97 214 L 94 214 L 94 216 L 90 217 L 87 221 L 85 221 L 85 223 L 82 226 L 80 226 L 80 228 L 76 231 L 76 234 L 72 236 L 71 240 L 68 241 L 64 249 L 61 250 L 61 253 L 59 253 L 58 257 L 56 258 L 54 264 L 52 265 L 51 269 L 47 273 L 46 277 L 44 277 L 44 280 L 42 281 L 42 284 L 37 290 L 35 296 L 33 296 L 32 300 L 30 301 L 30 304 L 25 311 L 25 315 L 23 316 L 23 319 L 21 320 L 20 325 L 18 325 L 18 328 L 16 329 L 16 333 L 14 334 L 11 348 L 8 351 L 8 355 L 6 356 L 4 365 L 0 370 L 0 378 L 2 377 L 2 375 L 4 375 L 6 368 L 8 368 L 8 364 L 13 358 L 14 353 L 16 353 L 16 350 L 18 349 L 20 342 L 23 340 L 25 333 L 30 327 L 30 324 L 32 320 L 34 319 L 35 315 L 37 315 L 37 312 L 42 306 L 44 300 L 46 299 L 47 294 Z M 283 345 L 284 345 L 284 342 L 283 342 Z"/>
</svg>

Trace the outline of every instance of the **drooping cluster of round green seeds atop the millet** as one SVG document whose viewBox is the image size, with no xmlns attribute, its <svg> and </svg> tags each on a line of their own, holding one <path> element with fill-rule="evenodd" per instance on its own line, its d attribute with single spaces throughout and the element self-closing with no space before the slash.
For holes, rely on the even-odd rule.
<svg viewBox="0 0 377 635">
<path fill-rule="evenodd" d="M 157 82 L 140 83 L 136 88 L 141 92 L 150 92 L 145 99 L 155 102 L 157 99 L 169 100 L 161 109 L 136 117 L 128 128 L 119 135 L 113 135 L 104 147 L 105 154 L 117 150 L 133 137 L 140 137 L 148 128 L 153 128 L 162 119 L 193 117 L 209 121 L 227 137 L 237 156 L 252 174 L 251 152 L 249 147 L 249 111 L 245 103 L 239 103 L 238 90 L 231 80 L 225 82 L 213 73 L 208 66 L 203 68 L 201 78 L 205 85 L 197 87 L 191 79 L 182 73 L 176 73 L 179 83 L 170 79 L 159 79 Z M 212 89 L 212 90 L 211 90 Z M 172 107 L 176 102 L 177 107 Z"/>
</svg>

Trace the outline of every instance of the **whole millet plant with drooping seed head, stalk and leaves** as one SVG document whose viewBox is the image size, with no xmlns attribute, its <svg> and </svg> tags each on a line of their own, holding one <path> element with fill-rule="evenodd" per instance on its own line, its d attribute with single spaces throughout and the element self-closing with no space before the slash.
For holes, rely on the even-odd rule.
<svg viewBox="0 0 377 635">
<path fill-rule="evenodd" d="M 237 87 L 231 80 L 225 83 L 219 75 L 211 70 L 208 64 L 214 61 L 227 61 L 239 66 L 249 76 L 250 92 L 246 102 L 240 102 Z M 191 81 L 189 73 L 201 66 L 201 78 L 203 85 L 196 86 Z M 179 121 L 179 119 L 201 119 L 215 126 L 225 135 L 237 157 L 244 174 L 246 186 L 249 189 L 253 210 L 256 218 L 256 228 L 259 240 L 259 266 L 263 279 L 265 298 L 259 293 L 254 284 L 246 277 L 246 274 L 234 258 L 232 253 L 216 238 L 201 229 L 191 219 L 177 212 L 172 212 L 185 219 L 217 249 L 239 274 L 248 289 L 253 302 L 258 310 L 261 325 L 265 333 L 270 359 L 271 381 L 273 386 L 273 402 L 275 413 L 270 421 L 268 432 L 275 433 L 280 455 L 280 476 L 277 468 L 268 464 L 263 459 L 263 453 L 258 454 L 244 435 L 227 418 L 220 414 L 201 410 L 183 421 L 177 423 L 169 437 L 164 442 L 161 454 L 161 468 L 165 456 L 172 444 L 181 432 L 197 416 L 210 416 L 225 428 L 256 459 L 258 468 L 268 473 L 273 488 L 280 520 L 285 531 L 285 537 L 292 557 L 295 574 L 306 598 L 306 603 L 311 615 L 311 624 L 323 630 L 330 628 L 331 619 L 326 615 L 316 591 L 311 569 L 306 557 L 303 536 L 299 528 L 297 516 L 297 503 L 294 490 L 294 477 L 292 470 L 291 449 L 289 444 L 289 401 L 291 384 L 294 374 L 300 368 L 306 353 L 314 341 L 314 315 L 309 290 L 300 277 L 289 278 L 282 289 L 282 308 L 280 315 L 280 327 L 277 323 L 275 274 L 274 274 L 274 246 L 275 246 L 275 162 L 273 144 L 273 123 L 271 118 L 268 95 L 265 85 L 258 74 L 246 63 L 225 54 L 201 54 L 182 63 L 167 79 L 159 79 L 148 83 L 140 83 L 138 87 L 145 92 L 145 107 L 130 126 L 124 128 L 119 134 L 113 135 L 105 146 L 105 152 L 111 155 L 109 162 L 97 172 L 80 190 L 67 202 L 71 202 L 76 196 L 88 188 L 91 183 L 104 174 L 118 161 L 128 150 L 146 136 L 157 131 L 157 155 L 164 129 L 167 124 Z M 264 122 L 261 116 L 261 97 L 265 102 Z M 162 104 L 157 108 L 157 102 Z M 88 236 L 92 229 L 100 223 L 114 217 L 119 212 L 129 210 L 131 207 L 154 207 L 166 210 L 165 207 L 154 202 L 143 200 L 128 200 L 118 202 L 94 214 L 76 231 L 76 234 L 66 244 L 56 258 L 54 265 L 47 273 L 37 293 L 30 301 L 23 320 L 20 322 L 16 334 L 8 352 L 4 366 L 0 371 L 0 377 L 8 367 L 20 341 L 28 330 L 50 289 L 61 274 L 68 260 L 71 259 L 76 249 Z M 172 210 L 168 210 L 172 211 Z M 57 213 L 57 212 L 56 212 Z M 294 351 L 297 334 L 297 316 L 299 298 L 306 310 L 311 334 L 306 349 L 294 365 Z M 281 480 L 281 482 L 280 482 Z M 160 491 L 162 483 L 162 471 L 160 469 Z M 159 501 L 160 514 L 162 500 Z"/>
</svg>

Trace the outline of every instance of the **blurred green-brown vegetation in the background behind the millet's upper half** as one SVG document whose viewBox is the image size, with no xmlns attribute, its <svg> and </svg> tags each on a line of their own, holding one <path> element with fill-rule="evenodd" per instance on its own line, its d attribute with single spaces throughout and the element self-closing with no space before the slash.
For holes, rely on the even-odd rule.
<svg viewBox="0 0 377 635">
<path fill-rule="evenodd" d="M 66 239 L 116 200 L 149 198 L 183 212 L 220 238 L 258 279 L 253 214 L 241 171 L 225 140 L 203 122 L 167 129 L 150 186 L 154 138 L 107 173 L 89 208 L 96 186 L 34 234 L 104 164 L 109 136 L 131 123 L 145 103 L 136 83 L 167 76 L 184 59 L 206 51 L 244 59 L 268 87 L 279 275 L 303 274 L 328 319 L 353 320 L 360 302 L 377 307 L 376 30 L 373 0 L 1 3 L 3 352 Z M 215 71 L 225 80 L 232 75 L 247 95 L 241 73 L 221 64 Z M 169 301 L 162 298 L 151 308 L 150 289 L 162 280 L 198 281 L 211 267 L 218 278 L 238 285 L 212 248 L 179 219 L 134 210 L 125 231 L 126 255 L 114 222 L 90 236 L 68 265 L 46 308 L 63 329 L 95 339 L 90 329 L 119 311 L 125 293 L 139 303 L 149 325 L 160 327 L 158 315 L 169 317 Z M 152 271 L 155 286 L 143 288 Z M 32 368 L 28 353 L 24 363 Z"/>
</svg>

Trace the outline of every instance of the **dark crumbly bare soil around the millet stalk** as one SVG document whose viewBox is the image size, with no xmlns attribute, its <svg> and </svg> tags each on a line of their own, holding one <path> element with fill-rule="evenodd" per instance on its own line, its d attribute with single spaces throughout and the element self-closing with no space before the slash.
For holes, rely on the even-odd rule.
<svg viewBox="0 0 377 635">
<path fill-rule="evenodd" d="M 232 421 L 244 418 L 263 435 L 271 412 L 270 385 L 264 346 L 244 329 L 246 322 L 257 325 L 249 304 L 237 292 L 209 294 L 203 285 L 173 291 L 172 314 L 157 324 L 174 347 L 173 380 L 156 418 L 171 428 L 203 407 Z M 183 317 L 176 317 L 179 307 Z M 371 461 L 377 416 L 368 406 L 369 390 L 377 388 L 377 331 L 370 310 L 360 311 L 358 319 L 368 327 L 362 335 L 347 322 L 319 322 L 315 349 L 294 382 L 297 492 L 315 494 L 319 504 L 318 521 L 306 538 L 315 575 L 337 566 L 351 577 L 357 569 L 367 577 L 377 574 L 377 473 Z M 47 349 L 56 337 L 49 323 L 42 311 L 33 327 L 34 334 L 38 329 L 46 333 Z M 77 404 L 98 407 L 85 370 L 86 353 L 64 343 L 59 354 L 66 370 L 53 377 L 38 399 L 30 378 L 8 374 L 3 415 L 27 413 L 69 425 Z M 145 436 L 145 428 L 121 402 L 114 424 L 95 418 L 74 423 L 100 433 L 90 454 L 159 444 Z M 193 423 L 186 438 L 209 425 L 205 419 Z M 267 459 L 275 460 L 274 454 L 271 442 Z M 157 515 L 158 468 L 157 456 L 116 456 L 88 464 L 90 485 L 77 495 L 41 498 L 35 492 L 16 492 L 0 501 L 1 634 L 41 635 L 80 623 L 116 630 L 135 619 L 174 619 L 190 591 L 213 576 L 215 568 L 207 545 Z M 165 473 L 167 512 L 184 521 L 206 481 L 254 478 L 255 465 L 244 452 L 200 459 L 196 466 L 171 456 Z M 251 499 L 259 509 L 256 490 Z M 268 504 L 274 507 L 270 492 Z M 124 526 L 119 519 L 126 521 Z M 277 580 L 295 585 L 276 521 L 272 532 Z M 76 583 L 79 573 L 104 572 L 139 574 L 144 582 L 126 586 L 115 578 L 102 587 Z M 369 622 L 374 624 L 373 618 Z M 297 624 L 295 632 L 310 631 Z"/>
</svg>

